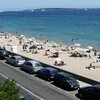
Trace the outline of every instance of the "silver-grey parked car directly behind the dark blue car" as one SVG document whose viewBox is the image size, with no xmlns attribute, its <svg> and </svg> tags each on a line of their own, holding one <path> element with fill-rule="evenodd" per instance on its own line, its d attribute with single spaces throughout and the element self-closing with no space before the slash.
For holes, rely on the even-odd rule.
<svg viewBox="0 0 100 100">
<path fill-rule="evenodd" d="M 37 61 L 28 60 L 22 65 L 21 69 L 32 74 L 32 73 L 36 73 L 40 69 L 43 69 L 43 67 Z"/>
</svg>

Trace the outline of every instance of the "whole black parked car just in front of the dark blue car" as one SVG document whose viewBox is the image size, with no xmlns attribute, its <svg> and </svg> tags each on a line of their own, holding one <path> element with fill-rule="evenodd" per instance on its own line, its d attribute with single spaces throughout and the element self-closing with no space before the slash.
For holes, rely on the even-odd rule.
<svg viewBox="0 0 100 100">
<path fill-rule="evenodd" d="M 54 77 L 54 83 L 64 89 L 78 89 L 80 86 L 72 75 L 65 72 L 57 73 Z"/>
</svg>

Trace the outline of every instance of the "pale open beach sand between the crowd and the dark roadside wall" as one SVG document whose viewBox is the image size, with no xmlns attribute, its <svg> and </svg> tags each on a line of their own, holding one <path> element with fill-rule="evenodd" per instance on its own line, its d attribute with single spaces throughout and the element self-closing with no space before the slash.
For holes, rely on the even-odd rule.
<svg viewBox="0 0 100 100">
<path fill-rule="evenodd" d="M 37 49 L 38 53 L 35 54 L 32 53 L 32 51 L 31 52 L 23 51 L 23 44 L 27 40 L 28 39 L 25 38 L 24 41 L 21 44 L 19 44 L 19 39 L 14 35 L 10 35 L 9 38 L 5 38 L 5 36 L 0 36 L 0 46 L 1 47 L 5 46 L 5 48 L 8 51 L 11 51 L 11 46 L 17 46 L 17 52 L 16 52 L 17 54 L 100 82 L 100 76 L 99 76 L 100 68 L 99 67 L 95 69 L 87 68 L 90 65 L 90 63 L 98 59 L 98 55 L 94 55 L 94 51 L 91 50 L 91 52 L 87 55 L 87 57 L 70 57 L 72 52 L 75 52 L 75 50 L 70 49 L 68 51 L 63 51 L 62 48 L 65 48 L 65 46 L 61 47 L 57 46 L 54 48 L 52 47 L 50 42 L 44 43 L 44 41 L 37 42 L 36 40 L 34 40 L 34 44 L 40 43 L 43 46 L 43 49 Z M 31 45 L 33 45 L 33 42 Z M 38 47 L 40 47 L 41 45 L 39 45 Z M 45 55 L 46 53 L 45 51 L 48 49 L 50 51 L 47 52 L 48 55 Z M 29 49 L 27 50 L 29 51 Z M 59 58 L 61 58 L 61 60 L 64 61 L 64 65 L 62 66 L 54 65 L 56 58 L 51 57 L 51 55 L 53 52 L 56 51 L 59 52 Z M 89 57 L 89 55 L 91 57 Z"/>
</svg>

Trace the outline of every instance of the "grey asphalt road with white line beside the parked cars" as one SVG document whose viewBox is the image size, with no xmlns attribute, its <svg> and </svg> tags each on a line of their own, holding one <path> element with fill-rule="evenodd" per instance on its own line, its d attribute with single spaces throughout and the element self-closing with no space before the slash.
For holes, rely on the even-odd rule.
<svg viewBox="0 0 100 100">
<path fill-rule="evenodd" d="M 27 100 L 79 100 L 75 96 L 77 91 L 63 90 L 50 82 L 35 77 L 35 75 L 30 75 L 7 64 L 5 61 L 0 61 L 0 73 L 4 77 L 14 79 Z M 82 83 L 82 85 L 87 84 Z"/>
</svg>

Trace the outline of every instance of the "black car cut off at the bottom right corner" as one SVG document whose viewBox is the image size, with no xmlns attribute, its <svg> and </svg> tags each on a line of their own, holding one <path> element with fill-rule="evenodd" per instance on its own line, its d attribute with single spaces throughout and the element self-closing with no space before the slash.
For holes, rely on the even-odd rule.
<svg viewBox="0 0 100 100">
<path fill-rule="evenodd" d="M 78 96 L 85 100 L 100 100 L 100 85 L 80 88 Z"/>
</svg>

